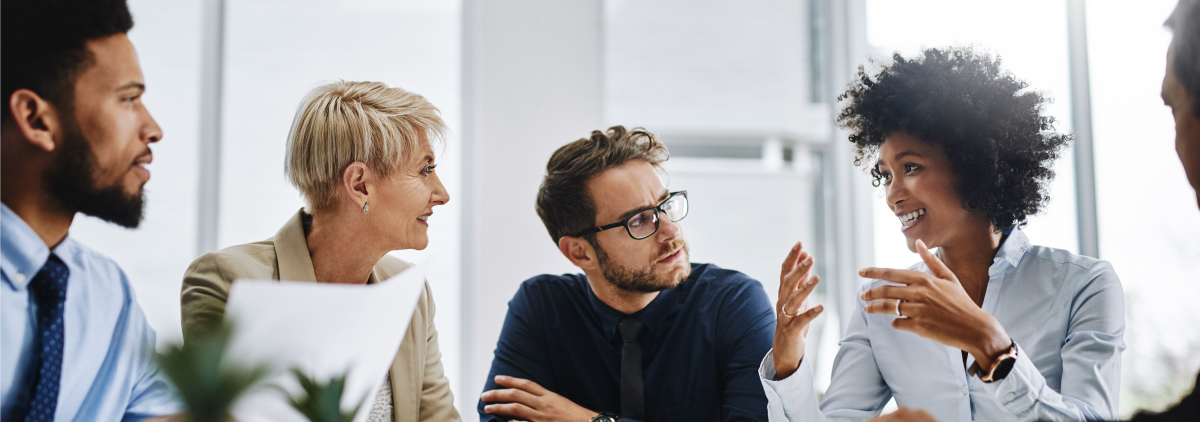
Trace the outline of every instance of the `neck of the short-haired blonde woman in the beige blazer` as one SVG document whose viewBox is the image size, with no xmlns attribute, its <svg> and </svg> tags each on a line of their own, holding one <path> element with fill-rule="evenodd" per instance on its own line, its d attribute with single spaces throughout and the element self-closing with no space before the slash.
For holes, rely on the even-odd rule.
<svg viewBox="0 0 1200 422">
<path fill-rule="evenodd" d="M 371 269 L 388 253 L 368 241 L 376 239 L 365 224 L 340 215 L 312 217 L 305 229 L 308 255 L 317 281 L 337 284 L 366 284 Z"/>
</svg>

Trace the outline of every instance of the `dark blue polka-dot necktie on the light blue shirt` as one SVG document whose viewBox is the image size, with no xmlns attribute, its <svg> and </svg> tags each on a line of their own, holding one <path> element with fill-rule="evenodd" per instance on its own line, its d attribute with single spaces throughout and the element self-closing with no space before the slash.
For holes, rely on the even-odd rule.
<svg viewBox="0 0 1200 422">
<path fill-rule="evenodd" d="M 37 339 L 34 396 L 29 402 L 26 422 L 54 421 L 54 409 L 59 404 L 59 380 L 62 375 L 62 303 L 67 299 L 67 265 L 50 254 L 46 266 L 29 283 L 29 293 L 37 303 Z"/>
</svg>

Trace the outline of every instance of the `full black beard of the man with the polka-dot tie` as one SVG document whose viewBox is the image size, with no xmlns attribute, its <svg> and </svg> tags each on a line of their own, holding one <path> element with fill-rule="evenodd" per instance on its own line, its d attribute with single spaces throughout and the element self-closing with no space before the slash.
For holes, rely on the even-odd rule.
<svg viewBox="0 0 1200 422">
<path fill-rule="evenodd" d="M 145 210 L 142 187 L 138 187 L 137 193 L 128 194 L 120 180 L 98 186 L 98 159 L 91 143 L 74 125 L 73 117 L 68 115 L 64 119 L 62 145 L 42 173 L 50 197 L 70 211 L 83 212 L 120 227 L 137 228 Z"/>
</svg>

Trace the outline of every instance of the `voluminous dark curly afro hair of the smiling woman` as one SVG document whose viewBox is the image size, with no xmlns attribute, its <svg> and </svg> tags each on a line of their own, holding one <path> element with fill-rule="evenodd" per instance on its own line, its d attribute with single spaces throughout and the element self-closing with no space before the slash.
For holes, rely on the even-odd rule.
<svg viewBox="0 0 1200 422">
<path fill-rule="evenodd" d="M 1025 225 L 1050 200 L 1051 165 L 1072 140 L 1045 115 L 1050 100 L 970 47 L 893 60 L 874 79 L 859 66 L 838 96 L 850 100 L 838 123 L 852 132 L 854 165 L 876 161 L 888 135 L 907 133 L 944 149 L 964 209 L 983 212 L 996 230 Z M 880 186 L 876 167 L 871 176 Z"/>
</svg>

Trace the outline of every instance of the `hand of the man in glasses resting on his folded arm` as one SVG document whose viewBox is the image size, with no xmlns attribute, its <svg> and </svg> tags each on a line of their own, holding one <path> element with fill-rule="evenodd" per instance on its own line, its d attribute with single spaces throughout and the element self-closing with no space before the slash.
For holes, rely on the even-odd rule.
<svg viewBox="0 0 1200 422">
<path fill-rule="evenodd" d="M 583 422 L 599 415 L 530 380 L 496 375 L 496 384 L 508 388 L 486 391 L 480 396 L 487 403 L 499 402 L 484 406 L 490 415 L 530 422 Z"/>
</svg>

